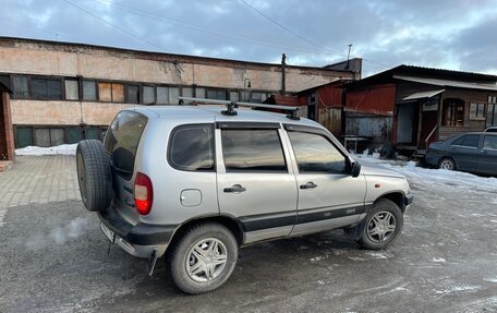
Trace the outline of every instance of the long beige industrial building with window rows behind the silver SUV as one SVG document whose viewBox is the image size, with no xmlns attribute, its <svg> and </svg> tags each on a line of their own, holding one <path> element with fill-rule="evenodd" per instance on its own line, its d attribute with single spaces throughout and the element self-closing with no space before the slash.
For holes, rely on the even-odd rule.
<svg viewBox="0 0 497 313">
<path fill-rule="evenodd" d="M 100 139 L 128 106 L 178 105 L 179 96 L 263 101 L 360 75 L 360 67 L 340 64 L 294 67 L 0 37 L 0 154 L 10 155 L 14 145 Z"/>
</svg>

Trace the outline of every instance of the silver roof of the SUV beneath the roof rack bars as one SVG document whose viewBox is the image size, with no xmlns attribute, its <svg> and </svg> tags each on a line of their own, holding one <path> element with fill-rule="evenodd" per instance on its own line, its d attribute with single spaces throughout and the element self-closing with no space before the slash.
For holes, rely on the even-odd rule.
<svg viewBox="0 0 497 313">
<path fill-rule="evenodd" d="M 245 108 L 238 108 L 237 116 L 226 116 L 221 111 L 226 110 L 225 106 L 150 106 L 150 107 L 132 107 L 128 108 L 145 113 L 148 118 L 174 118 L 174 117 L 213 117 L 216 122 L 271 122 L 271 123 L 286 123 L 298 124 L 305 127 L 314 127 L 324 129 L 324 127 L 310 119 L 301 118 L 300 120 L 292 120 L 287 118 L 284 113 L 275 113 L 260 110 L 251 110 Z"/>
</svg>

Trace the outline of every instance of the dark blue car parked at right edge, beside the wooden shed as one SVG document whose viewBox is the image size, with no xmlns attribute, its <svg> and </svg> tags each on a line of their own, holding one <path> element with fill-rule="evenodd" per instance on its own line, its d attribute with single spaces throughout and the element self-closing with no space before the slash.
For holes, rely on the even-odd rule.
<svg viewBox="0 0 497 313">
<path fill-rule="evenodd" d="M 497 176 L 497 133 L 465 133 L 432 143 L 425 162 L 447 170 Z"/>
</svg>

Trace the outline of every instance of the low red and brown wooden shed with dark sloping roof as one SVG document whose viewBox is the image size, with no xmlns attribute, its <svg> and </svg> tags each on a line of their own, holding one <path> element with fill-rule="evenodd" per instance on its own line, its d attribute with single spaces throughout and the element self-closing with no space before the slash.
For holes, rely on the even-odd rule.
<svg viewBox="0 0 497 313">
<path fill-rule="evenodd" d="M 497 125 L 497 76 L 400 65 L 344 85 L 346 134 L 424 149 Z"/>
</svg>

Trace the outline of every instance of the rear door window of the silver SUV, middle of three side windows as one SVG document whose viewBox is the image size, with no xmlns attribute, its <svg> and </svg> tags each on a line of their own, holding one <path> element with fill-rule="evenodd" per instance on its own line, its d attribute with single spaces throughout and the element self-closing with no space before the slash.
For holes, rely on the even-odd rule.
<svg viewBox="0 0 497 313">
<path fill-rule="evenodd" d="M 288 172 L 278 130 L 222 130 L 227 172 Z"/>
</svg>

